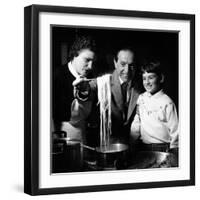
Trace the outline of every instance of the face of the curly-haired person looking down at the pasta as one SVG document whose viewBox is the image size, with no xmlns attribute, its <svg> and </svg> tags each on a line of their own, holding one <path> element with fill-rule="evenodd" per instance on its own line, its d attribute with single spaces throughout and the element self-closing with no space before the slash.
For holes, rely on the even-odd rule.
<svg viewBox="0 0 200 200">
<path fill-rule="evenodd" d="M 82 49 L 79 55 L 74 57 L 72 65 L 80 76 L 87 77 L 93 67 L 95 54 L 90 49 Z"/>
</svg>

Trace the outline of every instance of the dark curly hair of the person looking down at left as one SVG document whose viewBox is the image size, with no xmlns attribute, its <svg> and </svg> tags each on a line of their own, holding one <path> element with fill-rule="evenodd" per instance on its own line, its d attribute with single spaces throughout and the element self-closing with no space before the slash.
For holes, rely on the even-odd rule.
<svg viewBox="0 0 200 200">
<path fill-rule="evenodd" d="M 96 42 L 91 36 L 80 36 L 76 38 L 69 51 L 69 60 L 78 56 L 82 49 L 89 49 L 96 52 Z"/>
</svg>

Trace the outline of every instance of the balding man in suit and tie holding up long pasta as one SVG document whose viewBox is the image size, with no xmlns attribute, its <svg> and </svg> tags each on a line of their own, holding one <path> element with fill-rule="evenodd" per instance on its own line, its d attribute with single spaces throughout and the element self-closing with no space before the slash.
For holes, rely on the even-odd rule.
<svg viewBox="0 0 200 200">
<path fill-rule="evenodd" d="M 128 47 L 118 50 L 114 57 L 114 66 L 115 70 L 111 75 L 111 142 L 128 143 L 130 125 L 135 115 L 136 102 L 139 96 L 134 51 Z M 77 90 L 76 97 L 79 99 L 80 104 L 85 101 L 80 100 L 78 96 L 85 91 L 77 88 L 80 88 L 83 83 L 84 78 L 78 79 L 73 83 Z M 87 88 L 85 87 L 85 89 Z M 90 94 L 85 100 L 87 98 L 92 99 L 97 93 L 96 80 L 89 82 L 88 91 Z"/>
</svg>

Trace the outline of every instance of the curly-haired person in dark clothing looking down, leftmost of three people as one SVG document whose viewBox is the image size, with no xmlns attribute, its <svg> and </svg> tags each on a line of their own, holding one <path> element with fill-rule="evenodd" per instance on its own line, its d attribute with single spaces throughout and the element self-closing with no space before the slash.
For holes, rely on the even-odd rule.
<svg viewBox="0 0 200 200">
<path fill-rule="evenodd" d="M 96 44 L 89 36 L 78 37 L 69 52 L 69 62 L 54 73 L 53 80 L 53 121 L 56 131 L 67 132 L 76 139 L 81 134 L 69 122 L 73 112 L 74 100 L 72 83 L 80 77 L 90 77 L 95 59 Z"/>
</svg>

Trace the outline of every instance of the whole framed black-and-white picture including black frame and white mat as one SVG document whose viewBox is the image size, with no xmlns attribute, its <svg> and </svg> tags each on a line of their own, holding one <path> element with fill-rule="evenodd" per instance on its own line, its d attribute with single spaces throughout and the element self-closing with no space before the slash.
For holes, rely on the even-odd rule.
<svg viewBox="0 0 200 200">
<path fill-rule="evenodd" d="M 194 22 L 25 8 L 25 193 L 194 185 Z"/>
</svg>

